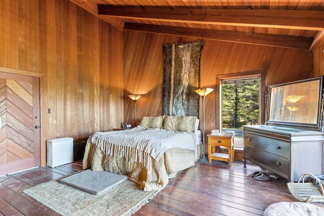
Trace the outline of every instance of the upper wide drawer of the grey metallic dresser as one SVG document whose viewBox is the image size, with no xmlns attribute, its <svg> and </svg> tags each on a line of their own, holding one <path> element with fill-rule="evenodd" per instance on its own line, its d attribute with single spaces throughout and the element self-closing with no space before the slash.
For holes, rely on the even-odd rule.
<svg viewBox="0 0 324 216">
<path fill-rule="evenodd" d="M 259 148 L 263 151 L 278 155 L 280 157 L 289 158 L 290 155 L 289 142 L 258 136 L 250 133 L 245 134 L 244 145 Z"/>
</svg>

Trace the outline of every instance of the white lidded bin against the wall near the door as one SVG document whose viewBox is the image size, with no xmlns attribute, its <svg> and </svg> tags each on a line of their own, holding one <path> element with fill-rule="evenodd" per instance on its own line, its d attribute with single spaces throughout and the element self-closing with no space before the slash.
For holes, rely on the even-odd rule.
<svg viewBox="0 0 324 216">
<path fill-rule="evenodd" d="M 73 138 L 63 137 L 46 141 L 47 166 L 55 167 L 73 162 Z"/>
</svg>

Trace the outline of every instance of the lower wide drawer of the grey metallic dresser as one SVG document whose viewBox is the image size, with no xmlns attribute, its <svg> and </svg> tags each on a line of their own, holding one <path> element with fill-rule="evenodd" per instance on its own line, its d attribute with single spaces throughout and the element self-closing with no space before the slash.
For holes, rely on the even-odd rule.
<svg viewBox="0 0 324 216">
<path fill-rule="evenodd" d="M 269 170 L 273 170 L 284 176 L 289 177 L 290 173 L 290 160 L 278 155 L 263 151 L 259 148 L 249 147 L 244 150 L 245 158 L 251 159 L 251 161 L 266 167 Z"/>
</svg>

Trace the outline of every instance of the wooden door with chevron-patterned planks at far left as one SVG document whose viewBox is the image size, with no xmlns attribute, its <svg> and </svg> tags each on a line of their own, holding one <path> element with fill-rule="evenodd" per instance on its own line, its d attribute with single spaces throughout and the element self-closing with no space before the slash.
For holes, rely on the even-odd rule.
<svg viewBox="0 0 324 216">
<path fill-rule="evenodd" d="M 0 176 L 41 165 L 39 77 L 0 72 Z"/>
</svg>

